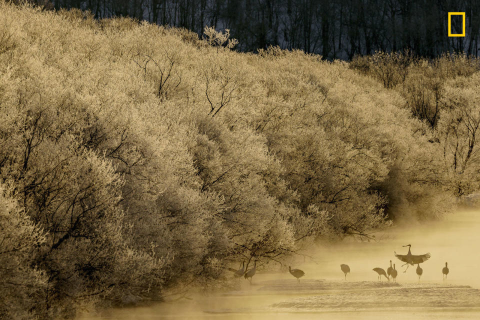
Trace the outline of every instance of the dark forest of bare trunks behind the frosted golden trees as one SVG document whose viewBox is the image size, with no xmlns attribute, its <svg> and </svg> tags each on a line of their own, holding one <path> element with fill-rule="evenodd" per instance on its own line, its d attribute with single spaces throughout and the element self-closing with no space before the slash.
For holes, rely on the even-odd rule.
<svg viewBox="0 0 480 320">
<path fill-rule="evenodd" d="M 205 25 L 229 28 L 237 49 L 269 45 L 299 48 L 325 58 L 405 48 L 434 57 L 464 51 L 478 55 L 477 0 L 52 0 L 55 8 L 89 9 L 97 18 L 130 16 L 184 27 L 200 36 Z M 466 37 L 447 36 L 449 11 L 466 13 Z M 460 33 L 461 17 L 452 31 Z"/>
</svg>

